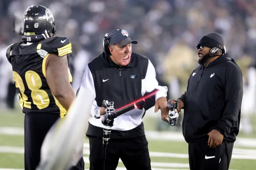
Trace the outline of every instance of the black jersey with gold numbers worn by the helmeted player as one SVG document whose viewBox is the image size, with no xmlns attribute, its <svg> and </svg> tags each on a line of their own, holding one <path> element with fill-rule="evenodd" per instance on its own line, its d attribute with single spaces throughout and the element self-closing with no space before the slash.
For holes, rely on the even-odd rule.
<svg viewBox="0 0 256 170">
<path fill-rule="evenodd" d="M 72 55 L 71 42 L 65 37 L 50 37 L 40 42 L 12 44 L 6 56 L 13 69 L 13 79 L 23 113 L 44 112 L 60 114 L 66 110 L 51 93 L 46 81 L 46 59 L 49 54 L 60 57 Z M 70 82 L 72 76 L 68 71 Z"/>
</svg>

